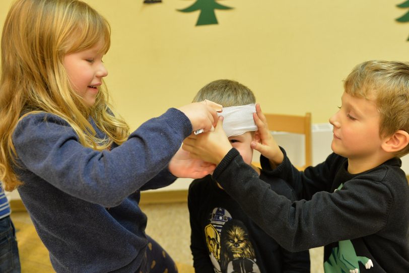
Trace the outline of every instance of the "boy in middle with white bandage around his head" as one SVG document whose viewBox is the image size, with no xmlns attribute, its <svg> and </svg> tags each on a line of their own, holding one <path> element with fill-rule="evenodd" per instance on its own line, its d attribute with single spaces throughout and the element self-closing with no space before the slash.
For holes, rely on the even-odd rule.
<svg viewBox="0 0 409 273">
<path fill-rule="evenodd" d="M 213 81 L 199 90 L 193 102 L 210 100 L 223 105 L 228 138 L 250 171 L 271 189 L 295 200 L 294 190 L 282 179 L 269 177 L 251 165 L 251 142 L 257 140 L 254 123 L 255 97 L 246 86 L 231 80 Z M 226 135 L 223 137 L 226 138 Z M 236 181 L 236 178 L 234 178 Z M 263 232 L 211 175 L 194 180 L 189 187 L 188 208 L 191 251 L 196 273 L 309 272 L 308 251 L 290 252 Z"/>
</svg>

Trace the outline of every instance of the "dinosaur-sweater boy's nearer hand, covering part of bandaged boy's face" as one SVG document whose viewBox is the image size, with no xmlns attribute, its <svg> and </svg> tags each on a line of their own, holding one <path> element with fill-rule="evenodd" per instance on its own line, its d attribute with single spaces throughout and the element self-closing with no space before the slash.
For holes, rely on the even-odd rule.
<svg viewBox="0 0 409 273">
<path fill-rule="evenodd" d="M 218 165 L 232 149 L 223 130 L 223 117 L 219 117 L 214 131 L 189 135 L 183 141 L 182 148 L 189 152 L 192 158 Z"/>
</svg>

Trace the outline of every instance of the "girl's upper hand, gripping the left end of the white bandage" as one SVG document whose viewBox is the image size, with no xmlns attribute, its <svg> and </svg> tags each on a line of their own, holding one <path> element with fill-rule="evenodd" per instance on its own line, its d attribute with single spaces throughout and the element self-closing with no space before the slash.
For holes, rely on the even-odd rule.
<svg viewBox="0 0 409 273">
<path fill-rule="evenodd" d="M 203 129 L 206 131 L 213 131 L 217 123 L 217 110 L 220 110 L 221 105 L 211 102 L 193 102 L 188 105 L 179 107 L 187 118 L 192 123 L 193 131 Z"/>
</svg>

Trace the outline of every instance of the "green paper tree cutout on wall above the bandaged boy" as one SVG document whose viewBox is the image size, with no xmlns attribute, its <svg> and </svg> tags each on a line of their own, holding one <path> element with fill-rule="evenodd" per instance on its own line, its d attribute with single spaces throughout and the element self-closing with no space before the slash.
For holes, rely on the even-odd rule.
<svg viewBox="0 0 409 273">
<path fill-rule="evenodd" d="M 215 10 L 230 10 L 233 8 L 220 5 L 216 0 L 196 0 L 190 7 L 178 10 L 179 12 L 200 11 L 196 26 L 217 24 Z"/>
</svg>

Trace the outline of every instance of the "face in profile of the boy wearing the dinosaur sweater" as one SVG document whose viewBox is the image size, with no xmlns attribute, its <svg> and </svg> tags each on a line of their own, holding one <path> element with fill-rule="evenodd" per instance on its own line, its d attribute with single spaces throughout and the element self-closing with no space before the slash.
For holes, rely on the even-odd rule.
<svg viewBox="0 0 409 273">
<path fill-rule="evenodd" d="M 370 161 L 381 151 L 380 114 L 373 99 L 344 92 L 342 105 L 329 122 L 333 127 L 331 149 L 350 160 Z"/>
</svg>

